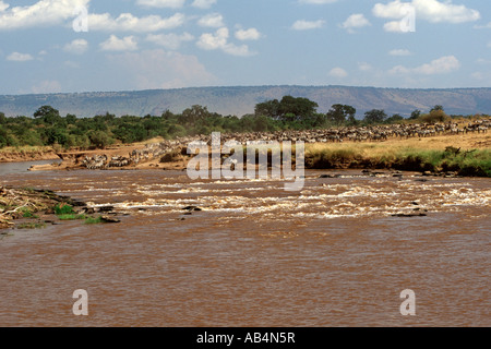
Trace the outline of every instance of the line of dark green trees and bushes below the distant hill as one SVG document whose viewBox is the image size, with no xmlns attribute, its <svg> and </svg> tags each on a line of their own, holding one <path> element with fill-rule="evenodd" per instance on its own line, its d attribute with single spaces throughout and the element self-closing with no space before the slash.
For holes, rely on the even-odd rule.
<svg viewBox="0 0 491 349">
<path fill-rule="evenodd" d="M 318 108 L 315 101 L 292 96 L 259 103 L 254 113 L 242 118 L 211 112 L 199 105 L 181 113 L 166 110 L 161 116 L 118 118 L 109 112 L 93 118 L 77 118 L 71 113 L 62 117 L 53 107 L 43 106 L 33 118 L 8 118 L 0 112 L 0 148 L 28 145 L 87 149 L 144 142 L 157 136 L 176 139 L 212 132 L 275 132 L 406 122 L 399 115 L 388 117 L 379 109 L 367 111 L 364 118 L 358 120 L 357 110 L 351 106 L 336 104 L 326 113 L 318 112 Z M 448 118 L 442 106 L 435 106 L 429 113 L 415 110 L 409 119 L 435 122 Z"/>
</svg>

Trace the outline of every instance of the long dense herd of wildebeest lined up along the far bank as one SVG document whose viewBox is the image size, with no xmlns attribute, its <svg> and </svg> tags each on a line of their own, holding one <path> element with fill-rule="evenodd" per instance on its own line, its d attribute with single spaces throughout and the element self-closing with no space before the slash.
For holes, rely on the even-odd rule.
<svg viewBox="0 0 491 349">
<path fill-rule="evenodd" d="M 325 130 L 302 131 L 276 131 L 276 132 L 249 132 L 221 134 L 221 143 L 232 141 L 247 145 L 248 142 L 304 142 L 304 143 L 328 143 L 328 142 L 383 142 L 388 139 L 431 137 L 436 135 L 458 135 L 466 133 L 487 133 L 491 127 L 491 118 L 479 119 L 467 124 L 448 123 L 408 123 L 368 127 L 344 127 Z M 85 156 L 80 159 L 81 166 L 87 169 L 108 169 L 136 166 L 141 163 L 161 158 L 166 154 L 185 149 L 191 142 L 200 141 L 212 144 L 212 135 L 197 135 L 166 140 L 160 143 L 147 144 L 142 149 L 134 149 L 125 156 L 109 157 L 107 155 Z"/>
</svg>

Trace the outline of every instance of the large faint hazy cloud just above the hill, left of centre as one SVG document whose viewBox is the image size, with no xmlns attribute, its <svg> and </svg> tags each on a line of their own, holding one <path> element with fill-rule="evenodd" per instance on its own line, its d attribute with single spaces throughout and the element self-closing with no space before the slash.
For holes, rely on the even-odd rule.
<svg viewBox="0 0 491 349">
<path fill-rule="evenodd" d="M 166 52 L 163 49 L 109 55 L 111 64 L 120 67 L 137 89 L 207 86 L 217 82 L 194 56 Z"/>
</svg>

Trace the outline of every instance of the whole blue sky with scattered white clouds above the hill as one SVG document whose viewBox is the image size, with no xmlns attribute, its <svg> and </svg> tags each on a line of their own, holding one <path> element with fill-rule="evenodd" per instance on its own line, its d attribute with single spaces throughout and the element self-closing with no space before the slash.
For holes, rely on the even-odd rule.
<svg viewBox="0 0 491 349">
<path fill-rule="evenodd" d="M 490 87 L 489 0 L 0 0 L 0 94 Z"/>
</svg>

